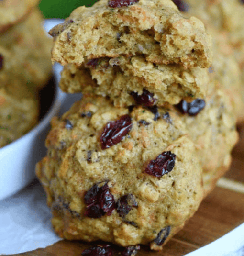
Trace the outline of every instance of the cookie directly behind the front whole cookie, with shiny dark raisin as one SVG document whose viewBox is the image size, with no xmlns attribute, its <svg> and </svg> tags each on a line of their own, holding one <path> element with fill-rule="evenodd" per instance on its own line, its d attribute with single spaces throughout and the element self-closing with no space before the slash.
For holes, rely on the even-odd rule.
<svg viewBox="0 0 244 256">
<path fill-rule="evenodd" d="M 229 169 L 231 151 L 238 141 L 233 103 L 217 80 L 211 81 L 208 97 L 198 102 L 182 101 L 175 106 L 197 148 L 203 167 L 204 194 Z"/>
</svg>

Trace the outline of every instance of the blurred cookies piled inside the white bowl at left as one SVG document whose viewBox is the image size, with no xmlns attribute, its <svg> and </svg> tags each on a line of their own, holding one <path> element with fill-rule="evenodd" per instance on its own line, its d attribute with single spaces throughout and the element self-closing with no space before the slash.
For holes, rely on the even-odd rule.
<svg viewBox="0 0 244 256">
<path fill-rule="evenodd" d="M 0 1 L 0 147 L 38 122 L 38 92 L 51 76 L 52 42 L 37 4 Z"/>
</svg>

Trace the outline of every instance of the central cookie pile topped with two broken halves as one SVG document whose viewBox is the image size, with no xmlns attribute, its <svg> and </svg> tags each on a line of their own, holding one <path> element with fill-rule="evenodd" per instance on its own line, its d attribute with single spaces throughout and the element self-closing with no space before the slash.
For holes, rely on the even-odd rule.
<svg viewBox="0 0 244 256">
<path fill-rule="evenodd" d="M 55 231 L 161 250 L 230 165 L 225 62 L 213 72 L 211 36 L 171 0 L 101 0 L 49 33 L 61 89 L 83 93 L 36 166 Z"/>
</svg>

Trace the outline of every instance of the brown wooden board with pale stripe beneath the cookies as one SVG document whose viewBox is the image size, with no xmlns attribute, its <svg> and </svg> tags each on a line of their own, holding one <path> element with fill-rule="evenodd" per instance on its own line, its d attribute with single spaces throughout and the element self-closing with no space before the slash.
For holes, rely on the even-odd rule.
<svg viewBox="0 0 244 256">
<path fill-rule="evenodd" d="M 244 222 L 244 125 L 239 127 L 239 132 L 240 141 L 233 150 L 230 171 L 202 201 L 183 230 L 165 245 L 163 251 L 152 252 L 143 246 L 137 256 L 182 256 L 211 243 Z M 98 244 L 104 243 L 63 240 L 44 249 L 13 256 L 81 256 L 84 249 Z M 119 247 L 112 248 L 115 252 L 121 251 Z"/>
</svg>

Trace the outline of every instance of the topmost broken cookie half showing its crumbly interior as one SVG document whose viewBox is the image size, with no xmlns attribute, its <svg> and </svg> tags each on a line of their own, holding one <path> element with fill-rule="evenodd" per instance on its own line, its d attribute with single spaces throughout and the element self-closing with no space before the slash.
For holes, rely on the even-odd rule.
<svg viewBox="0 0 244 256">
<path fill-rule="evenodd" d="M 100 0 L 78 7 L 49 33 L 52 60 L 62 65 L 100 57 L 138 56 L 156 64 L 209 67 L 211 36 L 195 17 L 184 18 L 171 0 Z"/>
</svg>

